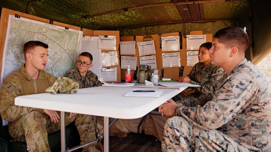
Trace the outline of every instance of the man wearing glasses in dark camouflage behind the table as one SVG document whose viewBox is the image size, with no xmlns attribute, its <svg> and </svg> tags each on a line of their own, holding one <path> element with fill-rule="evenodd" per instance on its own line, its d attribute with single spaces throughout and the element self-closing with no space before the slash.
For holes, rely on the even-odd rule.
<svg viewBox="0 0 271 152">
<path fill-rule="evenodd" d="M 76 61 L 76 67 L 66 74 L 66 77 L 79 83 L 79 88 L 102 86 L 98 76 L 88 69 L 93 66 L 93 57 L 88 52 L 82 52 Z"/>
</svg>

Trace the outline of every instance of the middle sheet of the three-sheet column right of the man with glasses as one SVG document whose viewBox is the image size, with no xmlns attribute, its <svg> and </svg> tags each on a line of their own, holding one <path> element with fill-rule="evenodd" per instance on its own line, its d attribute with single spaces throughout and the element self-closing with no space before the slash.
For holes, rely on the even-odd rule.
<svg viewBox="0 0 271 152">
<path fill-rule="evenodd" d="M 104 52 L 101 54 L 102 66 L 114 66 L 119 64 L 117 51 Z"/>
</svg>

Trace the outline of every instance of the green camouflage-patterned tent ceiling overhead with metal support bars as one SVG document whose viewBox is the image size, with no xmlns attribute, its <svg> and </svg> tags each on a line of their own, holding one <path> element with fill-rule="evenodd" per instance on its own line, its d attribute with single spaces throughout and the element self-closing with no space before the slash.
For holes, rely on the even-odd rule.
<svg viewBox="0 0 271 152">
<path fill-rule="evenodd" d="M 247 0 L 1 0 L 0 4 L 93 30 L 239 20 L 249 6 Z"/>
</svg>

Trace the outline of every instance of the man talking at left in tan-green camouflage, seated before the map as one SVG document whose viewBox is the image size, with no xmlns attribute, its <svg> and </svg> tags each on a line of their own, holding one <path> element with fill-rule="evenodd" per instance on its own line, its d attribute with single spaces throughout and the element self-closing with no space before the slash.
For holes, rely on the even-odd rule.
<svg viewBox="0 0 271 152">
<path fill-rule="evenodd" d="M 7 76 L 0 90 L 0 112 L 2 118 L 9 122 L 9 134 L 18 141 L 26 141 L 29 152 L 50 151 L 47 134 L 60 129 L 60 112 L 14 105 L 15 97 L 45 93 L 56 81 L 55 76 L 44 71 L 48 61 L 47 48 L 48 45 L 40 41 L 25 43 L 25 64 Z M 74 120 L 81 144 L 96 138 L 91 116 L 66 113 L 66 125 Z M 84 149 L 93 147 L 86 146 Z"/>
</svg>

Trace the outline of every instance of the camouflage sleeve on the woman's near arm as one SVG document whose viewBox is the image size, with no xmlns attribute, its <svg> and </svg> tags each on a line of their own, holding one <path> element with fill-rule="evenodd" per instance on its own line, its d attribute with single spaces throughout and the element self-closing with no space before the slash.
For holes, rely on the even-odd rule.
<svg viewBox="0 0 271 152">
<path fill-rule="evenodd" d="M 206 94 L 210 92 L 215 84 L 219 81 L 219 79 L 224 75 L 224 70 L 221 67 L 217 67 L 212 70 L 212 74 L 209 77 L 208 81 L 205 81 L 205 83 L 196 82 L 191 80 L 191 84 L 200 85 L 201 87 L 194 87 L 193 89 L 201 92 L 203 94 Z"/>
</svg>

